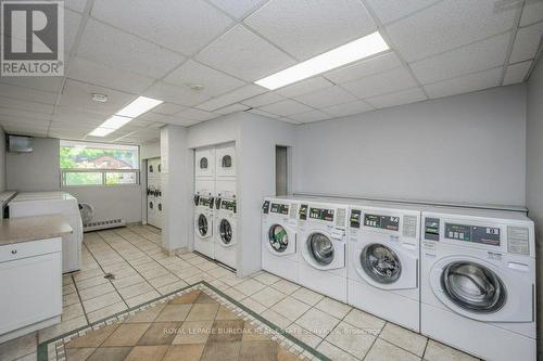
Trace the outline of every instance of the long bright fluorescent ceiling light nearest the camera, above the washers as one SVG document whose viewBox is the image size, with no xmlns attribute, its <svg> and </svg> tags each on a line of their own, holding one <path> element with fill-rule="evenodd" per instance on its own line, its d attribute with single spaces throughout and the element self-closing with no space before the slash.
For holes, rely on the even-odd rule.
<svg viewBox="0 0 543 361">
<path fill-rule="evenodd" d="M 255 83 L 274 90 L 389 49 L 389 46 L 379 31 L 376 31 L 285 70 L 256 80 Z"/>
</svg>

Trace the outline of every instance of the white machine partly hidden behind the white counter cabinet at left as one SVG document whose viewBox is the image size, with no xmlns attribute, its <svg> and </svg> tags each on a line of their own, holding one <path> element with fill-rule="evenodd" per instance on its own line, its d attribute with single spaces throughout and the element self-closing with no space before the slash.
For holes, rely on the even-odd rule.
<svg viewBox="0 0 543 361">
<path fill-rule="evenodd" d="M 64 192 L 18 193 L 10 203 L 10 218 L 62 215 L 74 232 L 62 237 L 62 272 L 81 268 L 83 221 L 77 199 Z"/>
</svg>

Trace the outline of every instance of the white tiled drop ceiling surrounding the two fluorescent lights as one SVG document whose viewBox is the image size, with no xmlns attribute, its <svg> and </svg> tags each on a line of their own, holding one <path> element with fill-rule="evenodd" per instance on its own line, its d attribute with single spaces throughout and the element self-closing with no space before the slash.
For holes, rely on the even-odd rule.
<svg viewBox="0 0 543 361">
<path fill-rule="evenodd" d="M 63 78 L 0 78 L 9 132 L 144 143 L 235 112 L 332 119 L 527 79 L 542 0 L 66 0 Z M 268 91 L 253 81 L 379 30 L 390 51 Z M 197 87 L 194 87 L 197 86 Z M 199 88 L 194 90 L 193 88 Z M 106 94 L 106 103 L 91 100 Z M 87 134 L 138 95 L 165 103 Z"/>
</svg>

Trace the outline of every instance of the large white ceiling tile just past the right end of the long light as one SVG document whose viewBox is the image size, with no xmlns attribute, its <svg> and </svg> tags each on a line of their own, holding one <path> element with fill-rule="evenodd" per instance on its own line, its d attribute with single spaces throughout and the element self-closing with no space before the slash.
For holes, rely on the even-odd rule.
<svg viewBox="0 0 543 361">
<path fill-rule="evenodd" d="M 409 62 L 513 28 L 516 9 L 496 11 L 495 0 L 441 1 L 387 27 Z"/>
</svg>

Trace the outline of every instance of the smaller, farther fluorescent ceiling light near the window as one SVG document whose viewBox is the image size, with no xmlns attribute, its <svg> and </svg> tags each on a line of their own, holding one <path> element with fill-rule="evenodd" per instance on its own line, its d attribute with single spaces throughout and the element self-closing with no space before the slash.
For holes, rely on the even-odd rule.
<svg viewBox="0 0 543 361">
<path fill-rule="evenodd" d="M 113 131 L 117 130 L 118 128 L 123 127 L 131 119 L 140 116 L 143 113 L 151 111 L 153 107 L 162 103 L 163 101 L 156 99 L 138 96 L 138 99 L 136 99 L 134 102 L 131 102 L 130 104 L 118 111 L 114 116 L 102 123 L 100 127 L 92 130 L 89 133 L 89 136 L 105 137 L 112 133 Z"/>
</svg>

